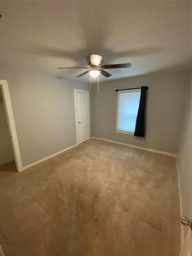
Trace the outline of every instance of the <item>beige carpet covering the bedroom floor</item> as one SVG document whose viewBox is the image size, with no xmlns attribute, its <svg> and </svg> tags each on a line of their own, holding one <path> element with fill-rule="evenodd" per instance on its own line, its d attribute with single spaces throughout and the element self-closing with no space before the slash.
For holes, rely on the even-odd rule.
<svg viewBox="0 0 192 256">
<path fill-rule="evenodd" d="M 0 172 L 6 256 L 178 256 L 176 158 L 91 139 Z"/>
</svg>

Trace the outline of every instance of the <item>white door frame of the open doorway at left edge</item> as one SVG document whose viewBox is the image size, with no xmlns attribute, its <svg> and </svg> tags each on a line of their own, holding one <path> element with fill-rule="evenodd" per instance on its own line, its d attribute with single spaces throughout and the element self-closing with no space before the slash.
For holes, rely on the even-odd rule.
<svg viewBox="0 0 192 256">
<path fill-rule="evenodd" d="M 0 80 L 0 87 L 1 87 L 1 92 L 3 96 L 3 104 L 5 107 L 5 113 L 7 117 L 7 123 L 9 127 L 9 133 L 11 138 L 11 144 L 13 147 L 13 154 L 15 157 L 16 168 L 18 172 L 21 172 L 23 170 L 23 167 L 22 167 L 21 155 L 19 150 L 19 143 L 17 140 L 17 133 L 15 128 L 15 122 L 13 117 L 13 110 L 11 106 L 7 80 Z"/>
</svg>

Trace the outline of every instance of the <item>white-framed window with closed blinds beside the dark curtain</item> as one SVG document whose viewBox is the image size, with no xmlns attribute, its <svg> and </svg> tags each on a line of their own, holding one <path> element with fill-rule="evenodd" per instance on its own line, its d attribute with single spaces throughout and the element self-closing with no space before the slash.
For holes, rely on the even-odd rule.
<svg viewBox="0 0 192 256">
<path fill-rule="evenodd" d="M 116 132 L 133 134 L 141 89 L 118 91 Z"/>
</svg>

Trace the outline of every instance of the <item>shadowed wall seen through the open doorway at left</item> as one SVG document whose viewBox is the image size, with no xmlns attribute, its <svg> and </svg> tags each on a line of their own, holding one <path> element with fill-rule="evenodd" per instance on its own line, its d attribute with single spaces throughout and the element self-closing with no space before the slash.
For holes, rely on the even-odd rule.
<svg viewBox="0 0 192 256">
<path fill-rule="evenodd" d="M 0 102 L 0 165 L 14 159 L 5 108 L 3 102 Z"/>
</svg>

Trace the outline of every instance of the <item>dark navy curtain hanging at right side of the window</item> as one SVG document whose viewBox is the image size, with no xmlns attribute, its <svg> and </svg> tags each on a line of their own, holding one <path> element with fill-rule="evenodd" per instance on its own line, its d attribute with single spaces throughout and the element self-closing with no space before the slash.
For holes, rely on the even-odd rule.
<svg viewBox="0 0 192 256">
<path fill-rule="evenodd" d="M 141 86 L 141 96 L 139 102 L 139 109 L 137 113 L 137 120 L 135 125 L 136 137 L 145 136 L 145 103 L 146 103 L 146 86 Z"/>
</svg>

